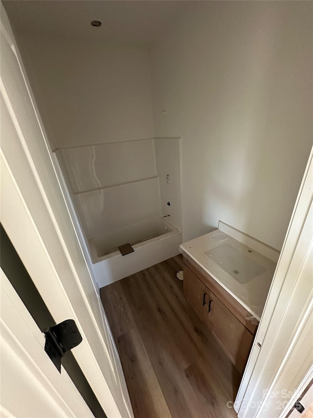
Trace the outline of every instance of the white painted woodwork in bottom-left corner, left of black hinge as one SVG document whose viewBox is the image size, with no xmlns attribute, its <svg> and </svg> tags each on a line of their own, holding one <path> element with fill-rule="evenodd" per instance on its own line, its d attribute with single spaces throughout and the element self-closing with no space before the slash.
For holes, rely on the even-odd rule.
<svg viewBox="0 0 313 418">
<path fill-rule="evenodd" d="M 93 417 L 66 370 L 45 353 L 45 337 L 0 270 L 0 416 Z"/>
</svg>

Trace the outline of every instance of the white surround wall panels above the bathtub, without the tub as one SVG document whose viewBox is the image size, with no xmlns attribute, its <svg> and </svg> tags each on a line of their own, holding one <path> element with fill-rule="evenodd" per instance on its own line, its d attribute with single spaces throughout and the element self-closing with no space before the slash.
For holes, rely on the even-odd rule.
<svg viewBox="0 0 313 418">
<path fill-rule="evenodd" d="M 167 215 L 181 230 L 180 152 L 179 138 L 58 149 L 87 238 Z"/>
</svg>

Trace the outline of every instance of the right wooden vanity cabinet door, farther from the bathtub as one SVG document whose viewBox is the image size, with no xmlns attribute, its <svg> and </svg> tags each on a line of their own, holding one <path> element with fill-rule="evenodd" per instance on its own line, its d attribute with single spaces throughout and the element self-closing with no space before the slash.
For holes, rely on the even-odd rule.
<svg viewBox="0 0 313 418">
<path fill-rule="evenodd" d="M 253 335 L 212 293 L 211 300 L 208 326 L 236 368 L 242 372 L 252 344 Z"/>
</svg>

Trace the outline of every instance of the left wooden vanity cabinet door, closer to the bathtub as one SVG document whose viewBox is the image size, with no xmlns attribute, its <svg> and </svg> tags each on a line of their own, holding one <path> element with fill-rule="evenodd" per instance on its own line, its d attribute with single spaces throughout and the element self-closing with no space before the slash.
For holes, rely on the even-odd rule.
<svg viewBox="0 0 313 418">
<path fill-rule="evenodd" d="M 184 269 L 184 293 L 203 322 L 207 321 L 209 290 L 189 269 Z"/>
</svg>

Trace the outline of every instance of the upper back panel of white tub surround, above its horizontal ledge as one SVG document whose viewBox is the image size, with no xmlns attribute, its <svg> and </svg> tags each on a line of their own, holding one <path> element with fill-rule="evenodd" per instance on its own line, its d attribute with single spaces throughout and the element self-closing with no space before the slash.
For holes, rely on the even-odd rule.
<svg viewBox="0 0 313 418">
<path fill-rule="evenodd" d="M 63 148 L 73 193 L 156 176 L 153 140 Z"/>
</svg>

